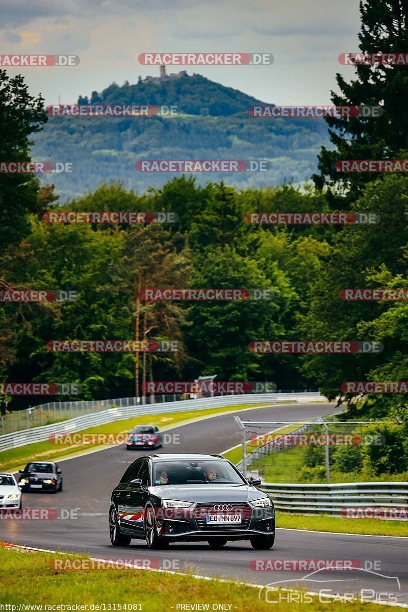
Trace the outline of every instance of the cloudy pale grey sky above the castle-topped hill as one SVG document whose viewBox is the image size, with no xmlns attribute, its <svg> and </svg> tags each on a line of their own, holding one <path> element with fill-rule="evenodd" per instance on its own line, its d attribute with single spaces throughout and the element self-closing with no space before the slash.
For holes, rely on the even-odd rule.
<svg viewBox="0 0 408 612">
<path fill-rule="evenodd" d="M 272 53 L 272 65 L 168 66 L 187 70 L 277 105 L 330 103 L 336 73 L 353 67 L 341 53 L 358 51 L 357 0 L 1 0 L 2 54 L 75 54 L 73 67 L 21 67 L 31 95 L 46 104 L 138 76 L 158 76 L 141 53 Z M 171 101 L 169 101 L 171 103 Z"/>
</svg>

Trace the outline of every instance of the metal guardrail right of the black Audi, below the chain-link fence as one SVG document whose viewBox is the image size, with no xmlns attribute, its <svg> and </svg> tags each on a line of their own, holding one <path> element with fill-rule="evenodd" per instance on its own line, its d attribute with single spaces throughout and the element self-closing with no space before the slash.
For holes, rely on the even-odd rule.
<svg viewBox="0 0 408 612">
<path fill-rule="evenodd" d="M 339 515 L 346 508 L 406 507 L 408 513 L 408 482 L 344 482 L 331 485 L 265 482 L 261 489 L 269 495 L 277 510 L 289 512 Z"/>
</svg>

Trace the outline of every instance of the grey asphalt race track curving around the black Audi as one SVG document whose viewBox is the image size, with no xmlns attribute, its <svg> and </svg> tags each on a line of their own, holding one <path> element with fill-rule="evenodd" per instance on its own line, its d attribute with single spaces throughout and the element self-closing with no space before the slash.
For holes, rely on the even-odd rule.
<svg viewBox="0 0 408 612">
<path fill-rule="evenodd" d="M 239 411 L 237 414 L 253 420 L 303 420 L 324 416 L 332 409 L 333 405 L 327 404 L 295 404 Z M 221 453 L 240 443 L 240 431 L 233 414 L 175 427 L 171 432 L 182 435 L 181 448 L 179 444 L 168 444 L 156 452 Z M 218 575 L 257 584 L 278 582 L 280 584 L 276 586 L 284 588 L 303 586 L 310 591 L 327 589 L 327 592 L 349 594 L 357 593 L 360 589 L 373 589 L 376 595 L 366 591 L 366 597 L 372 596 L 373 600 L 377 597 L 387 602 L 389 597 L 395 596 L 398 602 L 408 603 L 408 540 L 403 538 L 278 529 L 275 545 L 267 551 L 253 550 L 249 542 L 231 542 L 220 550 L 212 550 L 207 543 L 175 543 L 166 550 L 150 551 L 141 540 L 132 540 L 129 548 L 111 547 L 108 533 L 111 490 L 119 482 L 128 463 L 146 453 L 144 450 L 131 453 L 124 446 L 116 446 L 61 462 L 64 491 L 57 495 L 24 494 L 23 507 L 75 509 L 78 518 L 2 520 L 0 539 L 35 548 L 86 552 L 92 557 L 104 559 L 158 559 L 163 569 L 183 570 L 185 567 L 195 574 Z M 255 559 L 352 559 L 360 562 L 362 568 L 374 569 L 376 573 L 363 570 L 325 571 L 310 576 L 308 580 L 301 580 L 310 572 L 254 571 L 250 568 L 250 562 Z M 379 567 L 377 565 L 376 569 L 366 564 L 370 561 L 379 562 Z M 321 582 L 317 583 L 317 580 Z M 271 594 L 269 599 L 273 599 Z"/>
</svg>

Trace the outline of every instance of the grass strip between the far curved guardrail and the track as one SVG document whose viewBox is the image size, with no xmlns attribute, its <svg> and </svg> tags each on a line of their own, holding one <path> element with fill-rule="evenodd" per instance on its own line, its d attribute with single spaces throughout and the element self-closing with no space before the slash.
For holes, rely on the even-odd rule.
<svg viewBox="0 0 408 612">
<path fill-rule="evenodd" d="M 259 408 L 268 404 L 259 404 Z M 218 408 L 207 408 L 204 410 L 190 410 L 185 412 L 166 412 L 164 414 L 144 414 L 143 416 L 133 417 L 132 419 L 118 420 L 113 423 L 107 423 L 105 425 L 98 425 L 98 427 L 91 427 L 82 430 L 81 433 L 124 433 L 135 427 L 135 425 L 143 423 L 154 423 L 165 430 L 173 425 L 181 425 L 185 422 L 192 422 L 202 417 L 215 416 L 217 414 L 228 414 L 229 412 L 236 412 L 237 410 L 245 410 L 253 408 L 253 404 L 248 405 L 237 405 L 225 406 Z M 258 408 L 258 405 L 256 405 Z M 64 430 L 62 430 L 64 431 Z M 0 469 L 4 472 L 14 471 L 20 469 L 28 461 L 35 459 L 42 459 L 44 461 L 56 461 L 62 457 L 69 457 L 75 453 L 83 453 L 87 450 L 96 450 L 103 448 L 102 445 L 78 445 L 72 444 L 72 446 L 61 445 L 58 446 L 48 440 L 43 442 L 35 442 L 35 444 L 27 444 L 26 446 L 19 446 L 15 449 L 3 450 L 0 452 Z"/>
</svg>

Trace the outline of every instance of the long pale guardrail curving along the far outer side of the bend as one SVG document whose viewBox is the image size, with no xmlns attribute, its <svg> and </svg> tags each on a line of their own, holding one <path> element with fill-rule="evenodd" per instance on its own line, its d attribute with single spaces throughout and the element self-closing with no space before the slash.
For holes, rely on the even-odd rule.
<svg viewBox="0 0 408 612">
<path fill-rule="evenodd" d="M 9 450 L 33 442 L 43 442 L 56 433 L 75 433 L 89 427 L 105 425 L 117 420 L 130 419 L 131 417 L 162 414 L 165 412 L 184 412 L 190 410 L 204 410 L 218 406 L 231 406 L 242 404 L 278 404 L 280 402 L 327 401 L 327 399 L 315 392 L 303 393 L 274 393 L 258 395 L 223 395 L 222 397 L 209 397 L 197 400 L 169 401 L 165 404 L 147 404 L 144 406 L 127 406 L 126 408 L 109 408 L 94 414 L 85 414 L 51 425 L 42 425 L 31 429 L 15 431 L 0 436 L 0 451 Z"/>
</svg>

